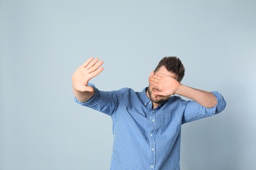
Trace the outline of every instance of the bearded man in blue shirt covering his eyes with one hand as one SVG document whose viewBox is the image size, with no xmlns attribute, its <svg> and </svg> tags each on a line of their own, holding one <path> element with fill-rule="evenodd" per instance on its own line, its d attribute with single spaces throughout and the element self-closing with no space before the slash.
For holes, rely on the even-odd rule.
<svg viewBox="0 0 256 170">
<path fill-rule="evenodd" d="M 98 58 L 85 61 L 72 76 L 72 85 L 77 103 L 112 117 L 113 170 L 180 169 L 181 125 L 217 114 L 226 106 L 219 92 L 181 84 L 184 66 L 179 58 L 161 59 L 142 92 L 98 90 L 89 80 L 103 70 L 102 64 Z"/>
</svg>

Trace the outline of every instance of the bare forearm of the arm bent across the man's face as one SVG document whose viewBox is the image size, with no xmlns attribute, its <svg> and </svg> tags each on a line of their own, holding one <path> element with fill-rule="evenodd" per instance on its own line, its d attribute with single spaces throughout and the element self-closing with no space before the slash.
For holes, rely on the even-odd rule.
<svg viewBox="0 0 256 170">
<path fill-rule="evenodd" d="M 206 92 L 203 90 L 198 90 L 195 88 L 190 88 L 181 84 L 179 88 L 177 88 L 176 92 L 177 95 L 182 95 L 189 99 L 192 99 L 198 102 L 203 107 L 211 108 L 217 105 L 217 99 L 213 93 Z"/>
</svg>

